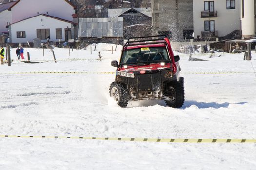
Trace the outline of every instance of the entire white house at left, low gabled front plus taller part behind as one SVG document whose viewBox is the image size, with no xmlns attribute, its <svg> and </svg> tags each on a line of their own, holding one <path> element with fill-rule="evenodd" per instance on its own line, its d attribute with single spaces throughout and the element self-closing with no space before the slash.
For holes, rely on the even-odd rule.
<svg viewBox="0 0 256 170">
<path fill-rule="evenodd" d="M 10 42 L 74 39 L 75 9 L 68 0 L 18 0 L 8 9 L 12 13 L 8 29 Z"/>
</svg>

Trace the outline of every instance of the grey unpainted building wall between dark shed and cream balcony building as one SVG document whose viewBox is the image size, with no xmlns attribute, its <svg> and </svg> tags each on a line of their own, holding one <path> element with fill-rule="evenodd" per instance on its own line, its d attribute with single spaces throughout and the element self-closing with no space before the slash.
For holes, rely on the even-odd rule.
<svg viewBox="0 0 256 170">
<path fill-rule="evenodd" d="M 172 41 L 184 41 L 183 31 L 193 30 L 193 0 L 153 0 L 153 34 L 171 32 Z"/>
</svg>

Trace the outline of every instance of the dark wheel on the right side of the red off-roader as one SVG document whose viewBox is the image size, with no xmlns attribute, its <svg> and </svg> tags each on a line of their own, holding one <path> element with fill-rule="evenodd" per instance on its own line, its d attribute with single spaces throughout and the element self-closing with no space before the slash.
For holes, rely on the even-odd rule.
<svg viewBox="0 0 256 170">
<path fill-rule="evenodd" d="M 183 86 L 183 78 L 178 82 L 171 82 L 169 84 L 167 93 L 171 100 L 165 101 L 166 105 L 173 108 L 180 108 L 185 101 L 185 92 Z"/>
</svg>

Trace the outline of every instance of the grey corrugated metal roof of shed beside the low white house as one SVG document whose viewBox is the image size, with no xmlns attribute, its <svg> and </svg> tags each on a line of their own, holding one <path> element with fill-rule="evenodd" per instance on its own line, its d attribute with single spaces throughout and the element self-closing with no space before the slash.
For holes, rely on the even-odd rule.
<svg viewBox="0 0 256 170">
<path fill-rule="evenodd" d="M 79 18 L 79 37 L 123 37 L 123 17 Z"/>
</svg>

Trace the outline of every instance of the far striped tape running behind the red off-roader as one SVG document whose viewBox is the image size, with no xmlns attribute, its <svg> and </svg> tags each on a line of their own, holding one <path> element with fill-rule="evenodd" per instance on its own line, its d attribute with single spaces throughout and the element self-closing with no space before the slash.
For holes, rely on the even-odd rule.
<svg viewBox="0 0 256 170">
<path fill-rule="evenodd" d="M 254 72 L 185 72 L 182 74 L 247 74 Z M 115 74 L 115 72 L 70 72 L 70 71 L 45 71 L 45 72 L 1 72 L 0 74 Z"/>
</svg>

